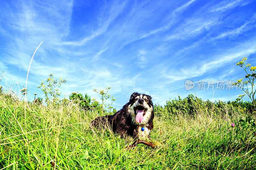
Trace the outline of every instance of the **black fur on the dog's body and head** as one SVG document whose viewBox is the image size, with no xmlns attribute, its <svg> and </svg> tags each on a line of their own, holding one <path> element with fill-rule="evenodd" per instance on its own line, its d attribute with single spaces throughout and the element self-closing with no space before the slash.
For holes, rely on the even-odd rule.
<svg viewBox="0 0 256 170">
<path fill-rule="evenodd" d="M 142 95 L 142 98 L 144 96 L 147 97 L 148 101 L 144 100 L 146 102 L 145 104 L 147 104 L 150 107 L 150 109 L 152 110 L 151 114 L 147 117 L 148 121 L 146 121 L 144 123 L 141 122 L 141 124 L 139 124 L 137 122 L 132 122 L 132 114 L 129 111 L 130 106 L 134 105 L 137 101 L 137 99 L 135 99 L 135 98 L 140 95 Z M 149 133 L 150 133 L 151 129 L 153 129 L 154 106 L 153 106 L 153 103 L 151 100 L 152 100 L 152 98 L 149 95 L 134 92 L 134 93 L 132 93 L 129 102 L 126 103 L 121 110 L 116 112 L 114 115 L 106 115 L 106 116 L 102 116 L 102 117 L 97 117 L 95 120 L 93 120 L 91 122 L 91 125 L 94 127 L 99 126 L 99 125 L 106 126 L 107 125 L 106 123 L 108 123 L 108 125 L 110 125 L 110 127 L 112 128 L 113 132 L 121 135 L 122 138 L 126 138 L 127 135 L 129 135 L 133 139 L 138 138 L 139 128 L 147 127 L 149 130 Z M 135 115 L 136 114 L 137 113 L 135 113 Z M 144 117 L 144 115 L 145 115 L 145 113 L 143 114 L 143 117 Z M 133 119 L 133 120 L 135 120 L 135 119 Z"/>
</svg>

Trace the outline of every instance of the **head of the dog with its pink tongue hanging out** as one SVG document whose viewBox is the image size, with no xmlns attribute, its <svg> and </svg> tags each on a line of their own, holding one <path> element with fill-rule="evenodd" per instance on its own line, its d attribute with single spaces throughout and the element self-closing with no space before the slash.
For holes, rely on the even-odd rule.
<svg viewBox="0 0 256 170">
<path fill-rule="evenodd" d="M 128 103 L 128 109 L 133 123 L 141 125 L 153 120 L 154 106 L 151 99 L 151 96 L 146 94 L 132 93 Z"/>
</svg>

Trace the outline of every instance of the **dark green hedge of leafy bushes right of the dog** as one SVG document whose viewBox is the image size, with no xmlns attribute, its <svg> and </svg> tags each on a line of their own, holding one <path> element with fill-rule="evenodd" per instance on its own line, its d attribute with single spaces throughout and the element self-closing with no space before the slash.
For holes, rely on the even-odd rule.
<svg viewBox="0 0 256 170">
<path fill-rule="evenodd" d="M 210 101 L 202 100 L 201 98 L 195 97 L 193 94 L 189 94 L 188 97 L 181 99 L 168 100 L 163 106 L 155 105 L 154 111 L 159 116 L 177 115 L 180 113 L 188 115 L 196 115 L 202 112 L 206 112 L 213 115 L 226 115 L 231 114 L 234 110 L 241 113 L 254 113 L 255 107 L 251 102 L 248 101 Z"/>
</svg>

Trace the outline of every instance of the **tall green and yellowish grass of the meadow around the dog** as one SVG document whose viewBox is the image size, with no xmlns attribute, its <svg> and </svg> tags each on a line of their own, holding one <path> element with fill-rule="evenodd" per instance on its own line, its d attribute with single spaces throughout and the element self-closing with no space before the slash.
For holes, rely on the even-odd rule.
<svg viewBox="0 0 256 170">
<path fill-rule="evenodd" d="M 0 169 L 256 167 L 256 137 L 239 126 L 244 114 L 237 110 L 218 116 L 161 113 L 164 116 L 155 117 L 149 139 L 161 146 L 152 149 L 138 144 L 127 150 L 128 143 L 111 130 L 90 127 L 99 116 L 95 111 L 82 111 L 72 103 L 48 107 L 28 104 L 25 122 L 25 106 L 25 102 L 0 95 Z"/>
</svg>

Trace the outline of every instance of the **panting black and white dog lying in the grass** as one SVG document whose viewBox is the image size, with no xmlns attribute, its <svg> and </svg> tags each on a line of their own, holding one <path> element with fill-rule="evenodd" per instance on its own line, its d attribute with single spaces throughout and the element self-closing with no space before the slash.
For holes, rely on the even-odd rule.
<svg viewBox="0 0 256 170">
<path fill-rule="evenodd" d="M 151 100 L 149 95 L 134 92 L 121 110 L 114 115 L 97 117 L 91 122 L 91 126 L 109 125 L 114 133 L 129 142 L 136 138 L 144 140 L 154 127 L 155 115 Z"/>
</svg>

